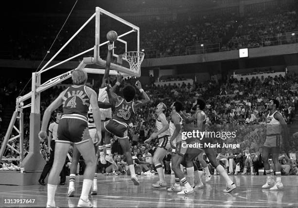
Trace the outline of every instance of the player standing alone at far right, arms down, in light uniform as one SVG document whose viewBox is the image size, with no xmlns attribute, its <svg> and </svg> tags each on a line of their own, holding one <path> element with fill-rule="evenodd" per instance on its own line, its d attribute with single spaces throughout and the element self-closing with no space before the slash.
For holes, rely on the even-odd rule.
<svg viewBox="0 0 298 208">
<path fill-rule="evenodd" d="M 288 148 L 288 129 L 286 122 L 282 115 L 277 111 L 279 108 L 279 101 L 272 99 L 269 101 L 269 114 L 266 119 L 266 140 L 262 151 L 262 162 L 267 175 L 267 181 L 262 186 L 262 189 L 268 189 L 274 185 L 270 190 L 279 190 L 283 188 L 280 177 L 279 153 L 282 142 L 284 147 Z M 281 137 L 281 130 L 283 130 L 284 137 Z M 283 139 L 283 140 L 282 140 Z M 268 162 L 269 154 L 272 153 L 272 160 L 275 168 L 276 182 L 271 175 L 270 166 Z"/>
</svg>

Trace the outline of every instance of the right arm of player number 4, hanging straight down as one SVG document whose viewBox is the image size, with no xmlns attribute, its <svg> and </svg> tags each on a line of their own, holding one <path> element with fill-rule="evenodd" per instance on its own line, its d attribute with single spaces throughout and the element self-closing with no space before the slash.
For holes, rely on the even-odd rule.
<svg viewBox="0 0 298 208">
<path fill-rule="evenodd" d="M 98 136 L 97 143 L 99 144 L 99 142 L 101 141 L 101 117 L 100 117 L 100 112 L 97 104 L 97 94 L 90 87 L 86 87 L 86 93 L 90 97 L 90 105 L 92 108 L 94 124 L 96 127 L 97 136 Z"/>
</svg>

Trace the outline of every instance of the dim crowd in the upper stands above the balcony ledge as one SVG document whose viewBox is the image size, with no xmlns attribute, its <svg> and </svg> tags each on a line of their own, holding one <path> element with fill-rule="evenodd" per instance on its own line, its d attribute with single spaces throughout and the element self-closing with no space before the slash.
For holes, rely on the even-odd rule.
<svg viewBox="0 0 298 208">
<path fill-rule="evenodd" d="M 298 28 L 297 11 L 297 4 L 294 4 L 277 6 L 269 10 L 257 9 L 254 12 L 246 12 L 244 17 L 238 14 L 203 17 L 185 14 L 182 15 L 184 18 L 179 17 L 176 20 L 152 19 L 135 24 L 141 28 L 140 47 L 148 51 L 148 55 L 151 53 L 150 50 L 154 50 L 157 57 L 164 57 L 186 55 L 187 46 L 202 43 L 205 45 L 220 43 L 218 51 L 276 45 L 273 41 L 279 40 L 279 37 L 284 36 L 286 31 Z M 35 22 L 38 20 L 35 19 Z M 58 19 L 41 19 L 38 25 L 42 30 L 36 30 L 35 24 L 24 23 L 18 30 L 16 28 L 15 32 L 5 33 L 8 41 L 3 44 L 2 51 L 7 51 L 7 53 L 2 53 L 1 56 L 13 59 L 42 59 L 60 29 L 61 25 L 56 22 Z M 78 29 L 78 22 L 84 23 L 82 19 L 72 19 L 65 25 L 50 50 L 50 56 L 53 56 L 71 38 Z M 122 30 L 123 28 L 117 28 L 119 34 L 122 34 Z M 106 39 L 105 32 L 101 32 L 100 36 Z M 297 38 L 297 36 L 294 37 Z M 291 41 L 283 41 L 282 44 L 292 43 Z M 82 30 L 57 58 L 72 57 L 93 45 L 94 28 Z M 117 54 L 120 54 L 120 51 L 124 52 L 123 47 L 117 44 Z M 100 53 L 105 57 L 106 50 Z"/>
</svg>

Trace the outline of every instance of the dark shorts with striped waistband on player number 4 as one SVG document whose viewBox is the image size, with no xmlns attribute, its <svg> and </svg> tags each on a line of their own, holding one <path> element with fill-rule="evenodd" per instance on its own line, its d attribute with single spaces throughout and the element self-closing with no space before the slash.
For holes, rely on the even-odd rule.
<svg viewBox="0 0 298 208">
<path fill-rule="evenodd" d="M 87 118 L 80 114 L 62 115 L 57 130 L 58 143 L 81 144 L 90 140 Z"/>
</svg>

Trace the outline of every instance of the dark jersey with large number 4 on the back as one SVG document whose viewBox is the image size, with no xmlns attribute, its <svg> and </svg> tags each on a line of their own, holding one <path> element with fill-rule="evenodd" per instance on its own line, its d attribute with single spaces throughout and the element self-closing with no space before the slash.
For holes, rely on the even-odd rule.
<svg viewBox="0 0 298 208">
<path fill-rule="evenodd" d="M 63 115 L 80 114 L 87 117 L 90 99 L 86 93 L 86 87 L 81 85 L 67 88 L 63 96 Z"/>
</svg>

